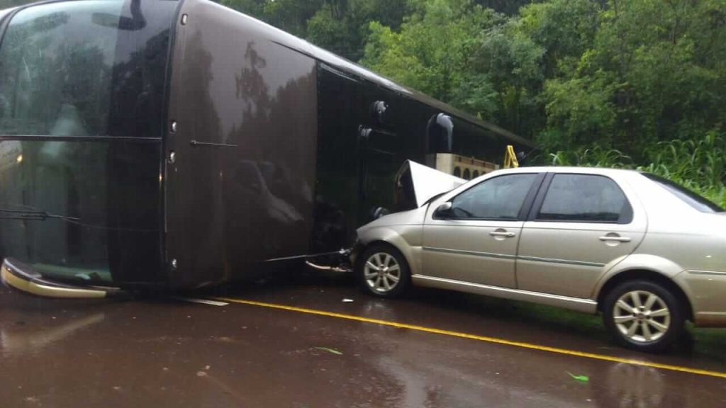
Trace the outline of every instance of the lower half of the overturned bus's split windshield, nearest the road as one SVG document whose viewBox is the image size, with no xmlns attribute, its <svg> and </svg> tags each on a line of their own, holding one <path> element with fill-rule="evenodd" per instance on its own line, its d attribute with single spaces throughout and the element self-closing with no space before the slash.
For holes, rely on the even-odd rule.
<svg viewBox="0 0 726 408">
<path fill-rule="evenodd" d="M 0 258 L 54 280 L 158 279 L 159 155 L 120 139 L 0 142 Z"/>
</svg>

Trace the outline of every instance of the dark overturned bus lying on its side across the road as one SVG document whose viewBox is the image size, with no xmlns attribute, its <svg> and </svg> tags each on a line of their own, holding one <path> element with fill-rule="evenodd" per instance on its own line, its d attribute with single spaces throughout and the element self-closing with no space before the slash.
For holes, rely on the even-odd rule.
<svg viewBox="0 0 726 408">
<path fill-rule="evenodd" d="M 507 144 L 531 148 L 211 1 L 0 11 L 10 280 L 189 289 L 325 256 L 396 206 L 404 161 Z"/>
</svg>

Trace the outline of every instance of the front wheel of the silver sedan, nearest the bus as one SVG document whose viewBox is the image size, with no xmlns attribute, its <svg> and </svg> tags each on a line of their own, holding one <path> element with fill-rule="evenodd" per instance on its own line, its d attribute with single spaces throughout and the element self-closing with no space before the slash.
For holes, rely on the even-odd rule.
<svg viewBox="0 0 726 408">
<path fill-rule="evenodd" d="M 411 270 L 401 251 L 387 244 L 365 248 L 355 265 L 362 289 L 379 298 L 396 298 L 411 285 Z"/>
</svg>

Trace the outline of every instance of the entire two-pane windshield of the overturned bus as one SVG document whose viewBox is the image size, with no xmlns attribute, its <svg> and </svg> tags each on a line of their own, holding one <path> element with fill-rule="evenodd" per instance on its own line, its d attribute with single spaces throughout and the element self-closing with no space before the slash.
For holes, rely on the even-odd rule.
<svg viewBox="0 0 726 408">
<path fill-rule="evenodd" d="M 176 4 L 60 1 L 9 15 L 0 33 L 0 258 L 56 280 L 158 280 Z"/>
</svg>

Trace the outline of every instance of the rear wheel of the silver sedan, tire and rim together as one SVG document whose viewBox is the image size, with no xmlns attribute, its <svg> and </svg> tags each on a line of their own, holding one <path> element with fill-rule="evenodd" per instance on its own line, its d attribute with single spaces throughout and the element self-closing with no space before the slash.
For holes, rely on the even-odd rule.
<svg viewBox="0 0 726 408">
<path fill-rule="evenodd" d="M 603 322 L 621 346 L 665 351 L 680 338 L 685 305 L 664 285 L 648 280 L 623 282 L 605 295 Z"/>
</svg>

